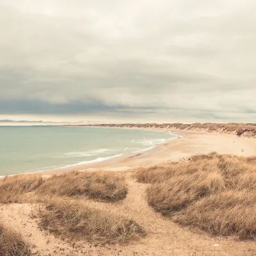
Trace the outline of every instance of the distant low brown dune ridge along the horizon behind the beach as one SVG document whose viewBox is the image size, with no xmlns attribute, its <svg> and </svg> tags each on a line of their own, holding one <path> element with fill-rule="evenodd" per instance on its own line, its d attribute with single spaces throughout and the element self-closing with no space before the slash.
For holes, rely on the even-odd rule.
<svg viewBox="0 0 256 256">
<path fill-rule="evenodd" d="M 72 125 L 67 125 L 72 126 Z M 76 125 L 86 127 L 117 127 L 117 128 L 142 128 L 142 129 L 177 129 L 196 132 L 216 132 L 219 134 L 234 134 L 248 138 L 256 138 L 256 124 L 88 124 Z"/>
</svg>

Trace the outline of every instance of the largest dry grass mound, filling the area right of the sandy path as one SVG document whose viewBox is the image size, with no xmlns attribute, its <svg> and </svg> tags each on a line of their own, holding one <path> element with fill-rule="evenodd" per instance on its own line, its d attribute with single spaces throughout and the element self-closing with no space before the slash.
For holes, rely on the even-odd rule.
<svg viewBox="0 0 256 256">
<path fill-rule="evenodd" d="M 211 153 L 186 163 L 142 168 L 148 204 L 180 225 L 214 235 L 256 238 L 256 157 Z"/>
</svg>

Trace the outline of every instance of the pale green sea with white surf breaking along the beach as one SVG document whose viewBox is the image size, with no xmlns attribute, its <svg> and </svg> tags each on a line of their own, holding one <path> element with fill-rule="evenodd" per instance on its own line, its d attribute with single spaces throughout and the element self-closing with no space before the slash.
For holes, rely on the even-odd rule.
<svg viewBox="0 0 256 256">
<path fill-rule="evenodd" d="M 0 126 L 0 176 L 104 161 L 176 137 L 138 129 Z"/>
</svg>

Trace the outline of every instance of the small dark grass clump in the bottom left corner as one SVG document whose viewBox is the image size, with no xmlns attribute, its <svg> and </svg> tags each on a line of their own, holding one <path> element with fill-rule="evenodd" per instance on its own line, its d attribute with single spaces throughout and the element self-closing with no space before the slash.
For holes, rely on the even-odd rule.
<svg viewBox="0 0 256 256">
<path fill-rule="evenodd" d="M 3 256 L 29 256 L 29 245 L 20 234 L 0 224 L 0 255 Z"/>
</svg>

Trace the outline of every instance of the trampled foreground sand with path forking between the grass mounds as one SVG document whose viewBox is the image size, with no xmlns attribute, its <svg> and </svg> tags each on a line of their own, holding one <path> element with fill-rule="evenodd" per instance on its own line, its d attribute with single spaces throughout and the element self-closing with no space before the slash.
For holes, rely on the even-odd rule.
<svg viewBox="0 0 256 256">
<path fill-rule="evenodd" d="M 125 175 L 129 185 L 129 193 L 123 202 L 105 204 L 84 200 L 84 204 L 115 209 L 136 220 L 147 230 L 147 237 L 138 242 L 127 246 L 100 246 L 84 242 L 72 246 L 40 231 L 36 220 L 31 218 L 35 205 L 29 204 L 1 205 L 1 221 L 21 232 L 33 244 L 35 255 L 256 255 L 255 242 L 209 237 L 163 218 L 147 205 L 147 185 L 136 182 L 132 172 L 120 172 L 119 175 Z M 218 247 L 214 247 L 216 243 Z"/>
</svg>

